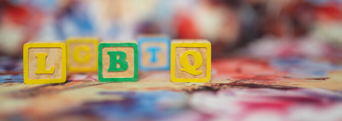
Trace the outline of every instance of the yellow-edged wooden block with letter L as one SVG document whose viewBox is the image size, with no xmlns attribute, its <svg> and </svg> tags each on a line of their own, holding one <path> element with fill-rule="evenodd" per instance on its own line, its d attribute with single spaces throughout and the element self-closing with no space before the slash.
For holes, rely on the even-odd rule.
<svg viewBox="0 0 342 121">
<path fill-rule="evenodd" d="M 33 41 L 24 44 L 25 84 L 63 83 L 66 81 L 65 44 Z"/>
</svg>

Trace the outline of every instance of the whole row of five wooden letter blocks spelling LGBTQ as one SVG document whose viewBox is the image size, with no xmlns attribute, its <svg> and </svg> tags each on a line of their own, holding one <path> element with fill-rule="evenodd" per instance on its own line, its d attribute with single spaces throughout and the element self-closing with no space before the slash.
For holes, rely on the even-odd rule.
<svg viewBox="0 0 342 121">
<path fill-rule="evenodd" d="M 138 81 L 141 71 L 171 70 L 172 82 L 209 82 L 211 44 L 142 36 L 136 41 L 99 42 L 69 38 L 64 42 L 24 44 L 24 83 L 63 83 L 70 73 L 96 72 L 100 82 Z M 170 67 L 171 65 L 171 67 Z"/>
</svg>

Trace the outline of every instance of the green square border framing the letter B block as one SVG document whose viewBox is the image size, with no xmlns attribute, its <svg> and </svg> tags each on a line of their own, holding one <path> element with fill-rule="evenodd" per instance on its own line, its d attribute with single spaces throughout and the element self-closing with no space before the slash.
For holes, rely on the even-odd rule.
<svg viewBox="0 0 342 121">
<path fill-rule="evenodd" d="M 102 74 L 102 49 L 103 47 L 133 47 L 134 76 L 131 78 L 103 78 L 103 74 Z M 99 43 L 98 77 L 99 77 L 99 82 L 136 82 L 138 81 L 138 45 L 137 43 Z"/>
</svg>

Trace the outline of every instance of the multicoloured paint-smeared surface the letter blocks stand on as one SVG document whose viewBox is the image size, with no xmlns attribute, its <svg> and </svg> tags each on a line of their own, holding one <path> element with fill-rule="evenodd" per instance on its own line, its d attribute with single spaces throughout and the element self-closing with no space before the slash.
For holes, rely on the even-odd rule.
<svg viewBox="0 0 342 121">
<path fill-rule="evenodd" d="M 319 67 L 315 69 L 326 72 L 314 77 L 291 71 L 313 66 L 292 67 L 291 62 L 289 70 L 283 70 L 274 63 L 280 61 L 276 58 L 234 57 L 213 60 L 210 83 L 173 83 L 169 71 L 151 71 L 139 74 L 138 82 L 100 83 L 96 73 L 87 73 L 68 75 L 67 81 L 60 84 L 25 85 L 22 72 L 18 71 L 22 70 L 22 61 L 0 60 L 1 120 L 342 118 L 342 71 L 322 69 L 338 67 L 328 61 L 295 59 L 311 62 Z"/>
</svg>

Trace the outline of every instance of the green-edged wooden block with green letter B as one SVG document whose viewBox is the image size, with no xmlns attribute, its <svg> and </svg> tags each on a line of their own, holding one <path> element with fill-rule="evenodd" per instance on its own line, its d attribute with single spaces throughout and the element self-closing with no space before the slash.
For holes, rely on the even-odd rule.
<svg viewBox="0 0 342 121">
<path fill-rule="evenodd" d="M 101 42 L 98 46 L 100 82 L 138 81 L 138 44 Z"/>
</svg>

